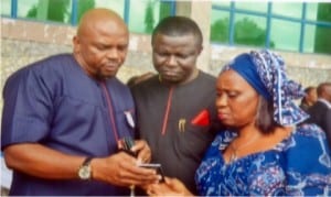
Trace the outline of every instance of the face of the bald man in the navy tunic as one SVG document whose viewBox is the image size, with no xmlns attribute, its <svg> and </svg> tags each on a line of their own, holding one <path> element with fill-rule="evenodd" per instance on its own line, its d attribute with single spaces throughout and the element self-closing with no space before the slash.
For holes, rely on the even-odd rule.
<svg viewBox="0 0 331 197">
<path fill-rule="evenodd" d="M 97 21 L 74 37 L 74 48 L 78 63 L 89 76 L 114 77 L 127 55 L 127 28 L 115 20 Z"/>
</svg>

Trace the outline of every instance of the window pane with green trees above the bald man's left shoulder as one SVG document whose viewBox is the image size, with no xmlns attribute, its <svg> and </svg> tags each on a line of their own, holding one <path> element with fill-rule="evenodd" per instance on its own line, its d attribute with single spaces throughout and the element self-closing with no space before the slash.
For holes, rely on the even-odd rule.
<svg viewBox="0 0 331 197">
<path fill-rule="evenodd" d="M 68 23 L 72 0 L 18 0 L 18 17 Z"/>
</svg>

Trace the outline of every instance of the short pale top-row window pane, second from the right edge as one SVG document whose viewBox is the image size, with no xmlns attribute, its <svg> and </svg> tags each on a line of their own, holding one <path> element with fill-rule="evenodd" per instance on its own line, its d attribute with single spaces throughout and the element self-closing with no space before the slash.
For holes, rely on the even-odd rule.
<svg viewBox="0 0 331 197">
<path fill-rule="evenodd" d="M 302 2 L 274 2 L 273 14 L 290 17 L 296 19 L 302 18 Z"/>
</svg>

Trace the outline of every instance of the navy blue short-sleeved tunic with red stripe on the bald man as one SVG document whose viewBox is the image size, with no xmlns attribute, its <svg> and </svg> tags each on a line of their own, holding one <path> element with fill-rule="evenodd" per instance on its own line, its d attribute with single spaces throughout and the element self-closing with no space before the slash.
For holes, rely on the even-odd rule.
<svg viewBox="0 0 331 197">
<path fill-rule="evenodd" d="M 117 139 L 134 135 L 129 89 L 117 78 L 88 77 L 73 55 L 45 58 L 14 73 L 3 89 L 1 150 L 40 143 L 82 156 L 117 152 Z M 113 117 L 113 118 L 111 118 Z M 135 117 L 134 117 L 135 119 Z M 128 195 L 97 180 L 50 180 L 14 172 L 10 195 Z"/>
</svg>

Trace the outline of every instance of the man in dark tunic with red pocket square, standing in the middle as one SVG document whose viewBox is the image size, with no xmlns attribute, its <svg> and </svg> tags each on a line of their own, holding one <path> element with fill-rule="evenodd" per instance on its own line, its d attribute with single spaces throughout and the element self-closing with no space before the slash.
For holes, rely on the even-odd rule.
<svg viewBox="0 0 331 197">
<path fill-rule="evenodd" d="M 194 194 L 195 169 L 221 130 L 216 78 L 196 66 L 202 43 L 193 20 L 164 18 L 151 40 L 158 75 L 131 88 L 139 134 L 150 145 L 152 162 L 162 164 L 166 176 L 179 178 Z"/>
</svg>

